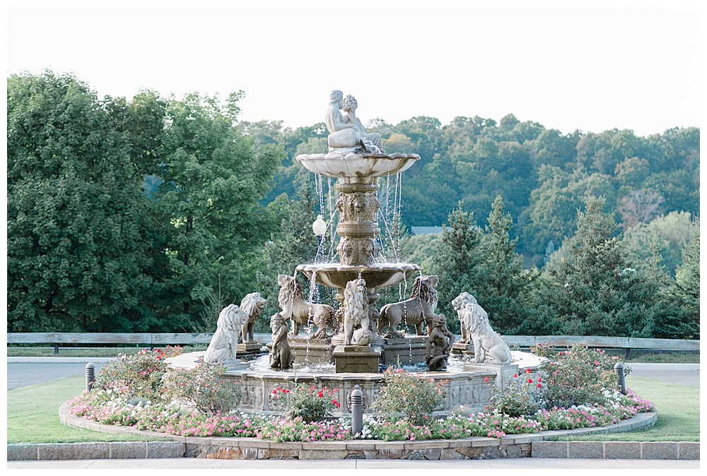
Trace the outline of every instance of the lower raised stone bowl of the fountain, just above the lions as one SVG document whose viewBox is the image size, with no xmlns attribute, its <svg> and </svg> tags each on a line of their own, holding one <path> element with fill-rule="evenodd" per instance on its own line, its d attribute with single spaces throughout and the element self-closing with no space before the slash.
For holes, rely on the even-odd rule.
<svg viewBox="0 0 707 476">
<path fill-rule="evenodd" d="M 397 285 L 410 278 L 414 273 L 419 273 L 420 267 L 409 263 L 385 263 L 373 266 L 344 266 L 337 263 L 300 264 L 297 267 L 300 273 L 311 281 L 315 275 L 315 282 L 327 287 L 344 289 L 349 281 L 363 278 L 368 289 Z"/>
</svg>

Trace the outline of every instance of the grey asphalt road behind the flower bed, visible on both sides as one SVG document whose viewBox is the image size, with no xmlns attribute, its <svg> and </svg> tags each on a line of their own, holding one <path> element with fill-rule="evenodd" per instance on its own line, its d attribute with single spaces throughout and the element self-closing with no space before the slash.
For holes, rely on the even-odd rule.
<svg viewBox="0 0 707 476">
<path fill-rule="evenodd" d="M 83 357 L 8 357 L 7 389 L 34 385 L 69 375 L 85 375 L 86 364 L 95 364 L 95 373 L 109 362 L 105 357 L 90 359 Z M 631 386 L 631 376 L 651 377 L 686 386 L 700 386 L 699 364 L 631 364 L 632 371 L 626 377 Z"/>
</svg>

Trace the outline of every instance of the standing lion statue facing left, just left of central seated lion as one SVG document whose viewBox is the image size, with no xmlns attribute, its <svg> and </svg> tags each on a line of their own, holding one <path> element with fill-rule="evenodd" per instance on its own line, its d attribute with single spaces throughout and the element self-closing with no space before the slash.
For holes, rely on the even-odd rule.
<svg viewBox="0 0 707 476">
<path fill-rule="evenodd" d="M 310 319 L 317 326 L 317 331 L 312 334 L 312 339 L 328 338 L 327 326 L 334 328 L 334 308 L 327 304 L 310 304 L 305 301 L 302 294 L 302 287 L 294 276 L 278 275 L 277 283 L 280 285 L 280 292 L 277 302 L 282 309 L 280 313 L 283 319 L 292 320 L 292 331 L 290 335 L 298 335 L 300 326 L 306 325 Z"/>
</svg>

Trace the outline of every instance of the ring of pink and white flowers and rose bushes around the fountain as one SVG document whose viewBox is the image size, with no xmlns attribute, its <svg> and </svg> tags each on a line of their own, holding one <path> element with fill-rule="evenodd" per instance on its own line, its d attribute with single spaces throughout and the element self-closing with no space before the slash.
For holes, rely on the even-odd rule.
<svg viewBox="0 0 707 476">
<path fill-rule="evenodd" d="M 170 352 L 178 353 L 179 350 Z M 116 359 L 115 364 L 99 376 L 93 391 L 83 392 L 69 401 L 69 411 L 102 424 L 131 426 L 177 436 L 241 436 L 305 442 L 351 439 L 418 441 L 468 436 L 500 438 L 506 434 L 603 427 L 631 418 L 638 412 L 655 411 L 650 402 L 636 393 L 628 391 L 627 395 L 621 395 L 616 379 L 610 379 L 607 374 L 613 366 L 612 359 L 604 357 L 601 351 L 579 346 L 550 359 L 544 368 L 541 367 L 535 380 L 530 376 L 515 376 L 518 379 L 515 388 L 496 393 L 486 411 L 467 414 L 463 409 L 457 409 L 443 418 L 431 415 L 444 398 L 438 383 L 400 369 L 390 369 L 385 374 L 390 386 L 375 402 L 385 412 L 379 417 L 364 416 L 363 431 L 352 434 L 350 418 L 327 417 L 332 408 L 341 404 L 326 388 L 299 386 L 293 392 L 276 389 L 274 397 L 281 399 L 287 410 L 285 416 L 249 415 L 238 411 L 234 405 L 216 405 L 223 402 L 224 395 L 228 396 L 229 403 L 240 395 L 233 383 L 218 378 L 221 369 L 217 366 L 204 364 L 193 369 L 193 375 L 181 371 L 165 378 L 160 376 L 160 379 L 148 378 L 141 370 L 132 370 L 155 368 L 158 362 L 156 371 L 163 374 L 165 369 L 160 361 L 164 355 L 163 351 L 157 350 Z M 131 369 L 129 375 L 120 374 L 122 369 Z M 563 371 L 569 370 L 581 375 L 573 374 L 573 380 L 564 378 Z M 574 391 L 577 381 L 583 388 Z M 182 382 L 185 383 L 182 385 Z M 412 386 L 416 391 L 410 391 Z M 595 391 L 588 392 L 588 387 Z M 199 398 L 195 399 L 194 395 Z M 551 398 L 544 398 L 545 395 Z M 416 398 L 421 401 L 417 402 Z M 204 405 L 204 399 L 210 402 L 209 405 Z M 556 399 L 572 400 L 573 404 L 566 407 L 547 405 Z M 417 410 L 411 412 L 410 409 Z"/>
</svg>

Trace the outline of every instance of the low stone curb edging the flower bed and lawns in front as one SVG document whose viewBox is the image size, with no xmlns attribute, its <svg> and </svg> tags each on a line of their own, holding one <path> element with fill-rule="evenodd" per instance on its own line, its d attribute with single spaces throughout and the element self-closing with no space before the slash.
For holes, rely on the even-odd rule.
<svg viewBox="0 0 707 476">
<path fill-rule="evenodd" d="M 72 444 L 8 444 L 7 460 L 79 460 L 127 458 L 224 459 L 477 459 L 477 458 L 606 458 L 699 460 L 694 441 L 545 441 L 556 436 L 628 432 L 652 427 L 657 412 L 640 413 L 609 427 L 578 428 L 508 435 L 501 439 L 472 437 L 426 441 L 284 442 L 255 438 L 170 436 L 129 427 L 99 424 L 59 409 L 64 424 L 107 434 L 133 434 L 173 441 L 115 441 Z"/>
</svg>

